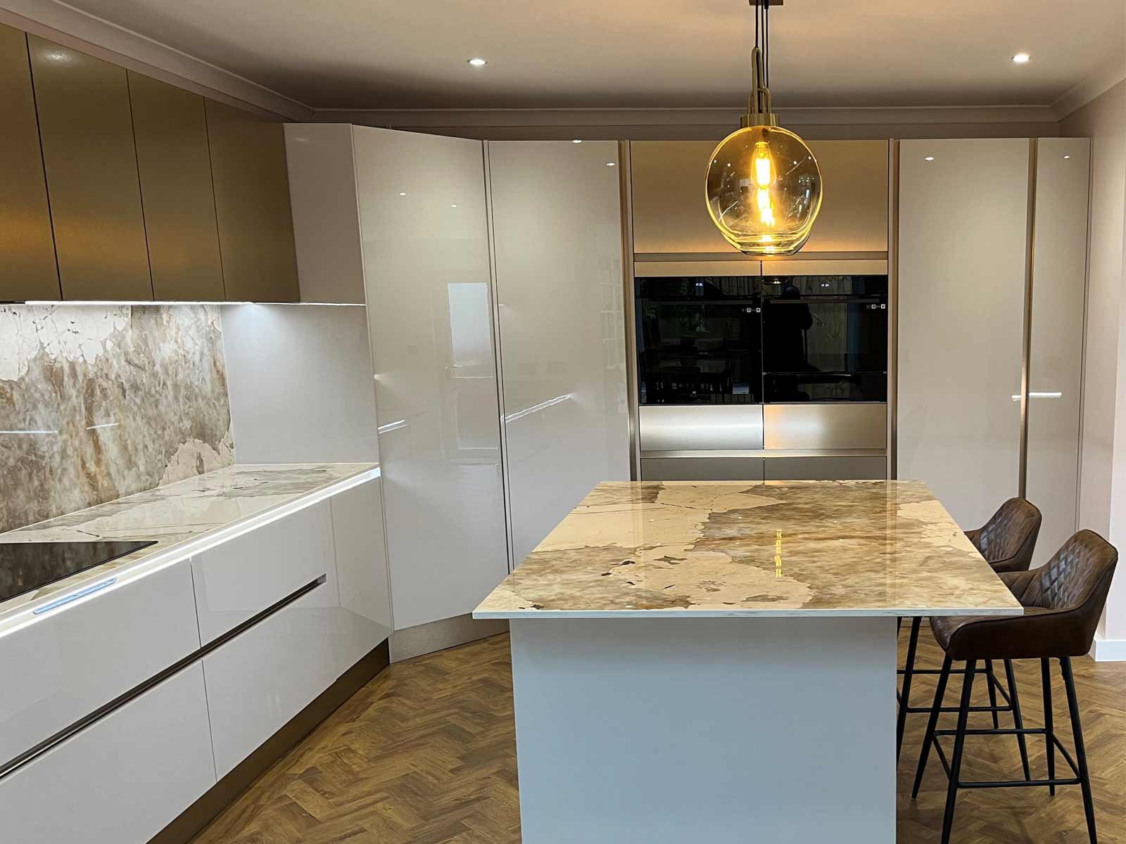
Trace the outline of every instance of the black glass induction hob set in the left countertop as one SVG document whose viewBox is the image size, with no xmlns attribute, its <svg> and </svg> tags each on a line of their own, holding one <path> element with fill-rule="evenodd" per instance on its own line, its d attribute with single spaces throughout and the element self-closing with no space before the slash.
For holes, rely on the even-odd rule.
<svg viewBox="0 0 1126 844">
<path fill-rule="evenodd" d="M 0 542 L 0 601 L 32 592 L 155 544 L 155 540 Z"/>
</svg>

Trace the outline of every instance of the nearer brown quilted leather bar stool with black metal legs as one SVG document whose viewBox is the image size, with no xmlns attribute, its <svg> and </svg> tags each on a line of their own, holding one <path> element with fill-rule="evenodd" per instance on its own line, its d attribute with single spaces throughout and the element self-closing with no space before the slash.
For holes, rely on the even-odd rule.
<svg viewBox="0 0 1126 844">
<path fill-rule="evenodd" d="M 1083 728 L 1079 718 L 1075 698 L 1075 677 L 1071 670 L 1071 657 L 1083 656 L 1091 649 L 1094 629 L 1102 614 L 1102 607 L 1110 591 L 1118 551 L 1107 540 L 1090 530 L 1081 530 L 1056 551 L 1049 563 L 1031 572 L 1013 572 L 1001 575 L 1013 595 L 1025 607 L 1019 617 L 953 617 L 932 618 L 935 638 L 946 652 L 946 661 L 935 693 L 935 706 L 927 726 L 927 738 L 919 755 L 911 797 L 919 794 L 919 784 L 927 770 L 927 758 L 931 746 L 949 776 L 946 792 L 946 815 L 942 819 L 942 844 L 950 841 L 954 826 L 954 808 L 959 788 L 1026 788 L 1046 785 L 1055 793 L 1056 785 L 1080 785 L 1083 791 L 1083 809 L 1087 814 L 1087 829 L 1091 844 L 1097 844 L 1094 832 L 1094 801 L 1091 797 L 1091 776 L 1087 769 L 1087 749 L 1083 746 Z M 962 702 L 958 706 L 957 729 L 936 729 L 938 716 L 950 679 L 950 665 L 955 659 L 966 661 L 962 681 Z M 1026 729 L 967 729 L 966 720 L 972 707 L 971 693 L 974 685 L 974 667 L 982 659 L 1039 659 L 1044 681 L 1044 727 Z M 1049 661 L 1058 659 L 1067 690 L 1067 709 L 1075 742 L 1075 757 L 1056 737 L 1052 722 L 1052 686 Z M 1048 778 L 1046 780 L 963 782 L 962 755 L 966 736 L 975 735 L 1027 735 L 1044 736 L 1047 746 Z M 946 754 L 937 738 L 954 736 L 954 755 L 947 762 Z M 1058 779 L 1055 775 L 1055 752 L 1067 762 L 1074 776 Z"/>
</svg>

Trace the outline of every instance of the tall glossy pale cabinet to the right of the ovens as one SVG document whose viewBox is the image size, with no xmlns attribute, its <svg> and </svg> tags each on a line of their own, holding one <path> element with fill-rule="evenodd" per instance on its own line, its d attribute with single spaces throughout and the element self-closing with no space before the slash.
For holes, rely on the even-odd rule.
<svg viewBox="0 0 1126 844">
<path fill-rule="evenodd" d="M 1090 141 L 900 142 L 897 476 L 975 528 L 1076 528 Z"/>
</svg>

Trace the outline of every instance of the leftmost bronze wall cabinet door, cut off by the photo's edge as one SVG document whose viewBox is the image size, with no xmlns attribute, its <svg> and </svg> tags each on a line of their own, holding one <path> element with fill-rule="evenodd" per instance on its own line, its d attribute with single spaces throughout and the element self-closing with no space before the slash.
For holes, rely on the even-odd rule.
<svg viewBox="0 0 1126 844">
<path fill-rule="evenodd" d="M 0 25 L 0 302 L 57 299 L 59 269 L 27 57 L 27 36 Z"/>
</svg>

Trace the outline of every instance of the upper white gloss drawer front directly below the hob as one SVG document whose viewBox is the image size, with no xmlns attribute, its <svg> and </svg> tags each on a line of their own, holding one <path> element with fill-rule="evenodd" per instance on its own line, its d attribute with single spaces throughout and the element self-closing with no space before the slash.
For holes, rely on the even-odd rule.
<svg viewBox="0 0 1126 844">
<path fill-rule="evenodd" d="M 186 560 L 66 598 L 0 637 L 0 770 L 199 648 Z"/>
</svg>

